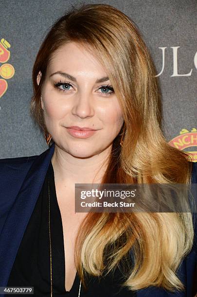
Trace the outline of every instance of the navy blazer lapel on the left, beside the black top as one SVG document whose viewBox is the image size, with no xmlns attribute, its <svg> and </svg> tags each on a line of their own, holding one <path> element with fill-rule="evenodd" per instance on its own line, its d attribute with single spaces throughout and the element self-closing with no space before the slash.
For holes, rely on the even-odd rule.
<svg viewBox="0 0 197 297">
<path fill-rule="evenodd" d="M 7 286 L 20 242 L 35 208 L 53 154 L 54 143 L 37 156 L 6 218 L 0 234 L 0 286 Z"/>
</svg>

